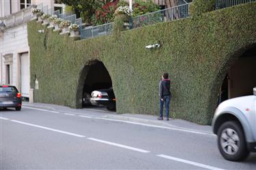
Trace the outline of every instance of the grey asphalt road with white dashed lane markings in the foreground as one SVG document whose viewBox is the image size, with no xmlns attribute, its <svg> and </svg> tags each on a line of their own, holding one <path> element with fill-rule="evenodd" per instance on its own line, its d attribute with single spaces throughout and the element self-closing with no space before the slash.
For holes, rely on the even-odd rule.
<svg viewBox="0 0 256 170">
<path fill-rule="evenodd" d="M 58 109 L 0 110 L 1 169 L 256 169 L 256 154 L 242 163 L 225 160 L 211 133 Z"/>
</svg>

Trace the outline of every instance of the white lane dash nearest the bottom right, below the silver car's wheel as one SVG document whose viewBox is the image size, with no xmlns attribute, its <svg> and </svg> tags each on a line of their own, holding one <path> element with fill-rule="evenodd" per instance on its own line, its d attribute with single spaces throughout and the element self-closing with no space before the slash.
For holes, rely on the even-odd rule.
<svg viewBox="0 0 256 170">
<path fill-rule="evenodd" d="M 165 154 L 158 154 L 156 156 L 162 157 L 162 158 L 167 158 L 169 160 L 174 160 L 174 161 L 177 161 L 177 162 L 180 162 L 180 163 L 186 163 L 186 164 L 189 164 L 189 165 L 194 165 L 196 167 L 202 167 L 202 168 L 205 168 L 205 169 L 224 170 L 224 169 L 220 169 L 220 168 L 217 168 L 217 167 L 212 167 L 210 165 L 204 165 L 204 164 L 196 163 L 196 162 L 193 162 L 193 161 L 190 161 L 190 160 L 185 160 L 185 159 L 182 159 L 182 158 L 175 158 L 173 156 L 168 156 L 168 155 L 165 155 Z"/>
</svg>

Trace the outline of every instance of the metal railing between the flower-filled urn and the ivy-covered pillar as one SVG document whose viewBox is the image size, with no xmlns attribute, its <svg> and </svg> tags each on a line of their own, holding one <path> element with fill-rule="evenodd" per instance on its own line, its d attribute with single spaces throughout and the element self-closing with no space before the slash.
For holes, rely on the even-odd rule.
<svg viewBox="0 0 256 170">
<path fill-rule="evenodd" d="M 135 29 L 150 24 L 157 24 L 158 22 L 167 22 L 182 18 L 188 18 L 189 5 L 190 3 L 186 3 L 184 5 L 177 5 L 176 7 L 168 8 L 166 10 L 160 10 L 157 12 L 152 12 L 150 14 L 144 14 L 142 16 L 134 17 L 132 18 L 132 20 L 130 20 L 130 28 Z"/>
</svg>

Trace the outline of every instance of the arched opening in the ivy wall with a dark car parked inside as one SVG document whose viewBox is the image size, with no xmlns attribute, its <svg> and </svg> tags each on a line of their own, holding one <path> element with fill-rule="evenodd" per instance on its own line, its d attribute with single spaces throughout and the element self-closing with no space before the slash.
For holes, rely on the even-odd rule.
<svg viewBox="0 0 256 170">
<path fill-rule="evenodd" d="M 85 65 L 83 72 L 85 73 L 82 73 L 82 79 L 84 80 L 83 89 L 81 88 L 81 90 L 83 90 L 82 107 L 104 105 L 109 109 L 111 107 L 109 107 L 109 103 L 106 102 L 106 98 L 111 100 L 112 103 L 114 102 L 113 105 L 115 106 L 115 101 L 113 101 L 115 95 L 113 93 L 111 76 L 104 64 L 97 60 L 90 61 L 88 65 Z M 91 92 L 95 91 L 101 92 L 102 95 L 92 97 Z M 104 94 L 106 95 L 104 96 Z M 93 101 L 92 98 L 96 99 Z M 111 110 L 115 110 L 115 108 L 112 107 Z"/>
</svg>

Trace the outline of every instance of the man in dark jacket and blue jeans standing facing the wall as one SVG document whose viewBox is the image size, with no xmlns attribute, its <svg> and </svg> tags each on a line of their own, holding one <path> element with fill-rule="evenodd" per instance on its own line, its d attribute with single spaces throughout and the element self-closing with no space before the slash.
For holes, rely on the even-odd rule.
<svg viewBox="0 0 256 170">
<path fill-rule="evenodd" d="M 165 103 L 165 116 L 166 120 L 169 120 L 169 104 L 171 100 L 170 85 L 171 81 L 169 80 L 168 73 L 162 75 L 162 80 L 159 83 L 159 97 L 160 97 L 160 115 L 158 120 L 163 120 L 162 118 L 162 109 Z"/>
</svg>

